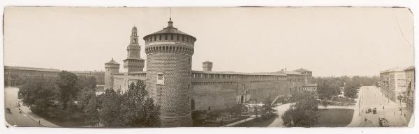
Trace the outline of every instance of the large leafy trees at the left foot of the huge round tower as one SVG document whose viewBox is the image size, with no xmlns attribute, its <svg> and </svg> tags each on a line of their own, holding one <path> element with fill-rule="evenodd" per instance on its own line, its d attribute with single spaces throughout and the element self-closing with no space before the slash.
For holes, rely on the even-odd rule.
<svg viewBox="0 0 419 134">
<path fill-rule="evenodd" d="M 112 89 L 100 95 L 99 117 L 105 127 L 156 127 L 160 125 L 160 107 L 148 96 L 145 84 L 131 83 L 121 94 Z M 90 103 L 89 103 L 90 105 Z M 87 109 L 90 109 L 87 106 Z"/>
</svg>

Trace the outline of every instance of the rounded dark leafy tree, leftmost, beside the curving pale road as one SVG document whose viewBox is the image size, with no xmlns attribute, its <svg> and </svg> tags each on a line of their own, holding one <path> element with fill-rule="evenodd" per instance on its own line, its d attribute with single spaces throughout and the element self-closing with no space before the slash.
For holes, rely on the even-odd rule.
<svg viewBox="0 0 419 134">
<path fill-rule="evenodd" d="M 57 87 L 44 78 L 34 79 L 20 87 L 18 94 L 23 103 L 30 106 L 32 112 L 45 112 L 54 103 Z"/>
</svg>

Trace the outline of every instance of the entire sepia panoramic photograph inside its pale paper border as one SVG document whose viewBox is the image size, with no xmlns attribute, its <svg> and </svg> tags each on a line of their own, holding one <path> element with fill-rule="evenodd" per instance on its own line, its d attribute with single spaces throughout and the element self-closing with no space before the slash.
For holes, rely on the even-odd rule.
<svg viewBox="0 0 419 134">
<path fill-rule="evenodd" d="M 3 10 L 7 127 L 413 127 L 405 7 Z"/>
</svg>

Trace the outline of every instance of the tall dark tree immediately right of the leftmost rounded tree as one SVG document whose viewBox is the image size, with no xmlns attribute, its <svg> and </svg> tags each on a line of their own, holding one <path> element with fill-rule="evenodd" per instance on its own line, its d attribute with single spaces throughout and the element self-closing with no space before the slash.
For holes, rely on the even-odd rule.
<svg viewBox="0 0 419 134">
<path fill-rule="evenodd" d="M 68 101 L 78 94 L 78 78 L 75 74 L 66 71 L 60 72 L 58 76 L 59 100 L 63 103 L 63 109 L 67 109 Z"/>
</svg>

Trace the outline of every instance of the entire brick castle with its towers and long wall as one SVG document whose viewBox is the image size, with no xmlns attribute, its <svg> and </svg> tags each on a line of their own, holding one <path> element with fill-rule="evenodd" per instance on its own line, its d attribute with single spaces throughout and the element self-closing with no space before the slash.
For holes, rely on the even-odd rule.
<svg viewBox="0 0 419 134">
<path fill-rule="evenodd" d="M 119 63 L 105 63 L 105 88 L 128 90 L 128 85 L 145 81 L 158 104 L 163 127 L 191 126 L 193 110 L 221 110 L 250 100 L 277 99 L 292 90 L 316 90 L 309 84 L 307 69 L 266 73 L 213 72 L 213 63 L 203 62 L 203 71 L 191 70 L 196 37 L 179 31 L 170 19 L 161 31 L 146 35 L 145 60 L 140 57 L 137 28 L 131 29 L 124 71 Z"/>
</svg>

